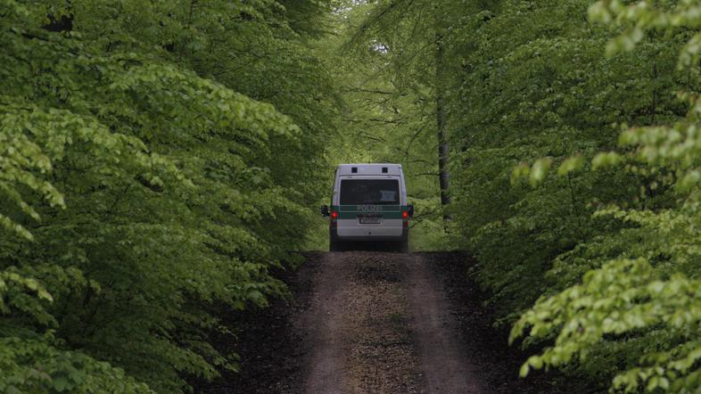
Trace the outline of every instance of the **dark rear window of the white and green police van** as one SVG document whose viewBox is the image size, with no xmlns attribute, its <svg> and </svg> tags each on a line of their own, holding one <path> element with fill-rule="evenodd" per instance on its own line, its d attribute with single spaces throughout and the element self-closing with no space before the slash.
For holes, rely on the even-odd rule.
<svg viewBox="0 0 701 394">
<path fill-rule="evenodd" d="M 399 205 L 400 182 L 393 179 L 344 179 L 341 205 Z"/>
</svg>

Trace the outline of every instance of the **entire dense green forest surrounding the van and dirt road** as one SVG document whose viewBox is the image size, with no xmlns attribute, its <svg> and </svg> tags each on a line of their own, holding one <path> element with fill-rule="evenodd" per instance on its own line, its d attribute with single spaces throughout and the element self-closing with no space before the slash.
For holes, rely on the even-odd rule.
<svg viewBox="0 0 701 394">
<path fill-rule="evenodd" d="M 336 164 L 397 162 L 414 250 L 597 390 L 701 386 L 701 3 L 0 0 L 0 392 L 245 368 L 326 247 Z M 505 339 L 506 341 L 506 339 Z"/>
</svg>

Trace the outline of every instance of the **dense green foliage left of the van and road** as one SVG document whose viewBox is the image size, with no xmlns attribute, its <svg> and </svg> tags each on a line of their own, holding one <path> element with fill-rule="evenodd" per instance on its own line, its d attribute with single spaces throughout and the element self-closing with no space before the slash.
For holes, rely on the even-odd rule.
<svg viewBox="0 0 701 394">
<path fill-rule="evenodd" d="M 0 391 L 236 367 L 203 306 L 285 294 L 268 270 L 305 243 L 334 134 L 301 21 L 329 7 L 0 1 Z"/>
</svg>

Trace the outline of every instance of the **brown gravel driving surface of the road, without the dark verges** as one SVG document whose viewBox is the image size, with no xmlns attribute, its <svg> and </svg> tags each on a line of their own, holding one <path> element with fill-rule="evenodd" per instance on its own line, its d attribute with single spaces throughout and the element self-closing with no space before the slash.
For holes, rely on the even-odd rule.
<svg viewBox="0 0 701 394">
<path fill-rule="evenodd" d="M 326 253 L 303 335 L 309 393 L 480 393 L 424 255 Z"/>
</svg>

